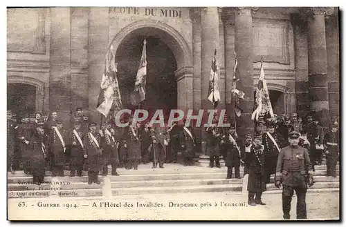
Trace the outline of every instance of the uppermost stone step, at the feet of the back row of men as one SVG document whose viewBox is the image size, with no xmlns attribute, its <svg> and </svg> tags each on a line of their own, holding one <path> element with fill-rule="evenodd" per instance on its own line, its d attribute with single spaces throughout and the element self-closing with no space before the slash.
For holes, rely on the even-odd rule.
<svg viewBox="0 0 346 227">
<path fill-rule="evenodd" d="M 164 173 L 190 173 L 190 172 L 227 172 L 227 168 L 225 166 L 221 168 L 205 168 L 205 167 L 199 167 L 199 166 L 181 166 L 179 164 L 167 164 L 165 168 L 151 168 L 152 164 L 147 164 L 147 165 L 140 165 L 138 167 L 138 170 L 125 170 L 125 168 L 118 168 L 117 172 L 119 175 L 153 175 L 153 174 L 164 174 Z M 327 170 L 327 166 L 322 165 L 322 166 L 315 166 L 316 170 Z M 336 166 L 336 169 L 339 169 L 339 165 Z M 241 167 L 240 171 L 243 172 L 244 168 Z M 234 172 L 234 170 L 233 170 Z M 84 176 L 87 176 L 87 172 L 83 171 L 82 172 Z M 108 174 L 111 175 L 111 167 L 109 166 L 109 171 Z M 51 176 L 51 171 L 46 171 L 46 176 Z M 64 170 L 64 175 L 69 176 L 70 171 L 69 170 Z M 7 176 L 10 177 L 28 177 L 30 175 L 26 175 L 24 171 L 15 171 L 15 174 L 8 172 Z"/>
</svg>

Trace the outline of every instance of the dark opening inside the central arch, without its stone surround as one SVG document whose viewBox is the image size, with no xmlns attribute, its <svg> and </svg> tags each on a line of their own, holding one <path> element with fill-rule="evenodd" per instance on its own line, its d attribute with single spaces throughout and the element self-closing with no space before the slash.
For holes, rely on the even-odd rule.
<svg viewBox="0 0 346 227">
<path fill-rule="evenodd" d="M 165 116 L 177 108 L 176 59 L 172 50 L 157 35 L 157 28 L 139 28 L 128 34 L 116 51 L 118 80 L 122 102 L 129 106 L 129 95 L 134 90 L 136 73 L 147 40 L 147 94 L 140 108 L 148 110 L 149 116 L 158 109 Z M 147 35 L 143 35 L 147 34 Z"/>
</svg>

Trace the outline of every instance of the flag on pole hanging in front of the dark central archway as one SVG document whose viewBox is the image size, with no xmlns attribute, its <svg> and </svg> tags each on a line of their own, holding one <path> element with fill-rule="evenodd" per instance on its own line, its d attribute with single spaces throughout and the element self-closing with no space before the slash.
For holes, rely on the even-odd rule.
<svg viewBox="0 0 346 227">
<path fill-rule="evenodd" d="M 131 105 L 133 106 L 138 106 L 140 102 L 145 100 L 145 86 L 147 84 L 147 40 L 144 39 L 143 43 L 143 51 L 140 57 L 134 91 L 130 95 Z"/>
</svg>

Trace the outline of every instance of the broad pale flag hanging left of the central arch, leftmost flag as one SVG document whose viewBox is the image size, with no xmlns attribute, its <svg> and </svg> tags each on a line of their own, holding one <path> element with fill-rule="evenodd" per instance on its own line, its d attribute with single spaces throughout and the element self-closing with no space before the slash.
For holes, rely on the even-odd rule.
<svg viewBox="0 0 346 227">
<path fill-rule="evenodd" d="M 118 77 L 116 75 L 118 69 L 113 46 L 111 46 L 110 52 L 111 59 L 108 59 L 108 52 L 106 55 L 106 67 L 102 75 L 98 105 L 96 106 L 96 110 L 106 118 L 110 110 L 113 110 L 114 114 L 116 114 L 122 109 Z"/>
</svg>

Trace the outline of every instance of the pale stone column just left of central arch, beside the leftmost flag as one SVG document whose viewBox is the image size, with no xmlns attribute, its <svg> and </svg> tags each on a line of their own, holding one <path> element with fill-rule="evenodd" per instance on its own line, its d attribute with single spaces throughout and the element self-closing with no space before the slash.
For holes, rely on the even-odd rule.
<svg viewBox="0 0 346 227">
<path fill-rule="evenodd" d="M 109 47 L 109 8 L 91 8 L 89 15 L 89 52 L 88 52 L 88 90 L 89 118 L 100 124 L 100 114 L 96 111 L 100 81 L 105 67 Z"/>
</svg>

